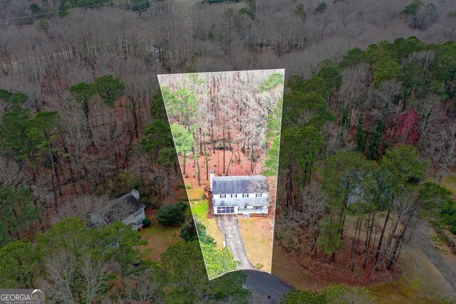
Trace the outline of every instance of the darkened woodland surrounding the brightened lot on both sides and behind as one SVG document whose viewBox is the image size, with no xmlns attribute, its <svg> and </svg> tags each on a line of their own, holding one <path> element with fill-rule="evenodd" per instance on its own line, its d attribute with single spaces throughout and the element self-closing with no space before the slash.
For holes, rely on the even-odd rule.
<svg viewBox="0 0 456 304">
<path fill-rule="evenodd" d="M 0 4 L 1 287 L 43 282 L 55 301 L 247 300 L 240 273 L 207 281 L 195 243 L 140 274 L 134 231 L 60 221 L 133 188 L 157 207 L 182 183 L 160 73 L 286 68 L 276 243 L 310 271 L 393 272 L 420 216 L 454 229 L 438 186 L 455 165 L 451 3 L 126 3 Z M 125 246 L 101 253 L 115 229 Z M 165 281 L 144 277 L 155 271 Z"/>
</svg>

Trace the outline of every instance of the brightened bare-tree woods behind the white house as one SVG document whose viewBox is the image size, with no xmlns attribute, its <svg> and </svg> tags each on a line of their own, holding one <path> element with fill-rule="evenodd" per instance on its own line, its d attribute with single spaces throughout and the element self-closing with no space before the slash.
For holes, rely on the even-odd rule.
<svg viewBox="0 0 456 304">
<path fill-rule="evenodd" d="M 159 80 L 186 180 L 190 160 L 196 169 L 194 186 L 209 181 L 210 169 L 227 176 L 263 171 L 276 175 L 284 83 L 281 71 L 160 75 Z M 222 150 L 222 159 L 217 160 L 217 167 L 209 168 L 216 150 Z"/>
</svg>

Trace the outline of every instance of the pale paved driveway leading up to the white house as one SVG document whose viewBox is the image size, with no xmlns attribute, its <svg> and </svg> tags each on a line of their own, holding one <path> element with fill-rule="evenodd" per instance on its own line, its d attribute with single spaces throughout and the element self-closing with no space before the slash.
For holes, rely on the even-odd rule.
<svg viewBox="0 0 456 304">
<path fill-rule="evenodd" d="M 234 260 L 241 263 L 239 269 L 255 269 L 252 263 L 250 263 L 247 253 L 245 253 L 237 216 L 233 214 L 216 215 L 215 221 L 220 232 L 227 239 L 227 247 L 233 253 Z"/>
</svg>

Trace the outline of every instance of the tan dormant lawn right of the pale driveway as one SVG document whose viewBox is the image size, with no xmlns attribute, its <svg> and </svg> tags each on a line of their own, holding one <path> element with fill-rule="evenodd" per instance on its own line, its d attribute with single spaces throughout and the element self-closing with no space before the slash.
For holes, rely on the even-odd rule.
<svg viewBox="0 0 456 304">
<path fill-rule="evenodd" d="M 249 260 L 255 266 L 263 264 L 261 271 L 271 272 L 272 219 L 269 217 L 238 217 L 242 241 Z"/>
</svg>

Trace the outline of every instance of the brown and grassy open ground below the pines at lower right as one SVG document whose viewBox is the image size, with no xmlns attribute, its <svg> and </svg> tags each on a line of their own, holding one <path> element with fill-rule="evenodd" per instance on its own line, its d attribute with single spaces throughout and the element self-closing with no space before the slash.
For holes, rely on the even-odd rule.
<svg viewBox="0 0 456 304">
<path fill-rule="evenodd" d="M 376 303 L 442 303 L 442 300 L 435 300 L 440 295 L 436 290 L 446 289 L 448 293 L 452 292 L 440 271 L 420 248 L 406 248 L 402 263 L 402 268 L 407 270 L 403 274 L 395 273 L 389 280 L 385 276 L 388 281 L 367 286 Z M 326 269 L 328 266 L 319 265 L 319 269 L 318 266 L 313 267 L 314 271 L 311 271 L 311 266 L 306 265 L 302 258 L 287 253 L 280 246 L 274 246 L 273 273 L 300 290 L 321 290 L 330 285 L 331 281 L 336 281 L 336 276 L 338 283 L 366 285 L 362 281 L 354 282 L 357 274 L 347 274 L 343 268 L 334 268 L 331 273 Z M 333 277 L 328 277 L 331 274 Z"/>
</svg>

